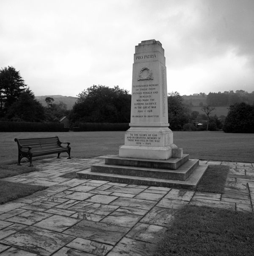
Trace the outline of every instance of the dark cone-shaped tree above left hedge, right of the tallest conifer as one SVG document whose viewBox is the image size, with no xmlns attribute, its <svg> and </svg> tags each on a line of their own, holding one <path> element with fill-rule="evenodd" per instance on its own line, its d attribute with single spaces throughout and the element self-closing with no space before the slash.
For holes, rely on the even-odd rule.
<svg viewBox="0 0 254 256">
<path fill-rule="evenodd" d="M 8 108 L 6 115 L 8 120 L 19 122 L 41 122 L 45 119 L 43 106 L 29 88 L 19 95 L 18 100 Z"/>
</svg>

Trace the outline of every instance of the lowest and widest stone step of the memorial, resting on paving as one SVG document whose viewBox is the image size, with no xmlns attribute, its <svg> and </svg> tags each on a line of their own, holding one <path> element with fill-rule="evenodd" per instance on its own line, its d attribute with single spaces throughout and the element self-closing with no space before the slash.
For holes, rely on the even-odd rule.
<svg viewBox="0 0 254 256">
<path fill-rule="evenodd" d="M 113 173 L 94 173 L 91 169 L 83 170 L 77 172 L 77 178 L 84 179 L 95 179 L 104 180 L 118 183 L 127 184 L 137 184 L 137 185 L 147 185 L 147 186 L 164 186 L 164 187 L 174 187 L 183 189 L 196 189 L 202 175 L 207 170 L 207 165 L 199 165 L 193 170 L 193 173 L 189 176 L 186 181 L 179 180 L 168 180 L 162 178 L 149 178 L 149 177 L 138 177 L 131 175 L 120 175 Z"/>
</svg>

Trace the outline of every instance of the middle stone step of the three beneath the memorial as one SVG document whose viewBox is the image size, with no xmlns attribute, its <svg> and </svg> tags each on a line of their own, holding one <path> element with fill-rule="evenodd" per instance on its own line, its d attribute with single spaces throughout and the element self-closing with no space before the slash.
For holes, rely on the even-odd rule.
<svg viewBox="0 0 254 256">
<path fill-rule="evenodd" d="M 91 172 L 185 181 L 198 165 L 198 159 L 188 160 L 187 162 L 182 164 L 182 166 L 179 167 L 177 170 L 99 163 L 91 165 Z"/>
</svg>

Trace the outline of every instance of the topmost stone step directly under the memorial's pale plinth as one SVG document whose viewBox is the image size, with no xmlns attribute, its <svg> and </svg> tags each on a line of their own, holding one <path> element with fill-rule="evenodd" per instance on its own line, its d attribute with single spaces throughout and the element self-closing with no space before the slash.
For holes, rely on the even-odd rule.
<svg viewBox="0 0 254 256">
<path fill-rule="evenodd" d="M 168 160 L 136 159 L 111 156 L 105 159 L 105 164 L 177 170 L 182 164 L 184 164 L 188 160 L 188 154 L 183 154 L 182 158 L 170 158 Z"/>
</svg>

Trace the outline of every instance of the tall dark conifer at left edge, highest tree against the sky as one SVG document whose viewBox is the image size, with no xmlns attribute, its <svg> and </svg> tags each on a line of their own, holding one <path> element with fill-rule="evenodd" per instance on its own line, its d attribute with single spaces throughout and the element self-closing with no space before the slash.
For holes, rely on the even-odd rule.
<svg viewBox="0 0 254 256">
<path fill-rule="evenodd" d="M 25 82 L 14 67 L 0 69 L 0 110 L 7 110 L 25 91 Z"/>
</svg>

